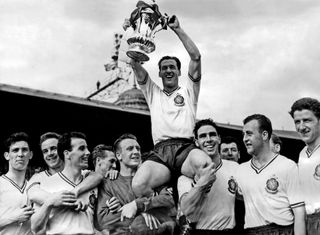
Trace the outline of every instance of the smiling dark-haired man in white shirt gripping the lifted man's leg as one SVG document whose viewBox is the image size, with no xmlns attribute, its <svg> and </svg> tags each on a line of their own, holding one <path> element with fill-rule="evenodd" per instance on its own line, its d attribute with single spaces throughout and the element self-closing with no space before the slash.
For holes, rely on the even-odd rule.
<svg viewBox="0 0 320 235">
<path fill-rule="evenodd" d="M 208 154 L 213 163 L 196 176 L 198 180 L 179 177 L 181 210 L 189 222 L 196 223 L 191 234 L 234 234 L 234 174 L 238 164 L 221 159 L 218 127 L 211 119 L 196 123 L 194 137 L 196 146 Z"/>
</svg>

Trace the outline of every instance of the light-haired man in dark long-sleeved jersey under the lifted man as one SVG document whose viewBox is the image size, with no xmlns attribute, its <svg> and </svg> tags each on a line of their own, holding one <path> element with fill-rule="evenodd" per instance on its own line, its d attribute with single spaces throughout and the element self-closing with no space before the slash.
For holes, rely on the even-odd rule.
<svg viewBox="0 0 320 235">
<path fill-rule="evenodd" d="M 97 222 L 103 234 L 173 234 L 175 222 L 170 212 L 174 201 L 163 187 L 146 198 L 136 198 L 131 182 L 141 164 L 140 145 L 132 134 L 120 136 L 114 144 L 120 161 L 117 179 L 104 179 L 99 186 Z M 174 215 L 174 214 L 173 214 Z"/>
</svg>

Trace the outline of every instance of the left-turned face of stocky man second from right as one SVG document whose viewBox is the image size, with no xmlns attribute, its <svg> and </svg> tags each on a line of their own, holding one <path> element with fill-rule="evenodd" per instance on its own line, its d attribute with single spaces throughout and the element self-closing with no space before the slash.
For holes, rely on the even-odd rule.
<svg viewBox="0 0 320 235">
<path fill-rule="evenodd" d="M 243 126 L 243 143 L 248 154 L 257 155 L 260 152 L 263 147 L 263 134 L 260 133 L 257 120 L 249 121 Z"/>
</svg>

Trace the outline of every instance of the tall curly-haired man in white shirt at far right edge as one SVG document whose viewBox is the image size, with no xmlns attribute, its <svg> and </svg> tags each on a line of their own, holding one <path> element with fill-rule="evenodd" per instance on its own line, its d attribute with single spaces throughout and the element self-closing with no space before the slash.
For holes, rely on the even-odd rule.
<svg viewBox="0 0 320 235">
<path fill-rule="evenodd" d="M 320 102 L 302 98 L 294 102 L 290 115 L 306 144 L 299 156 L 299 173 L 306 203 L 308 234 L 319 234 L 320 226 Z"/>
</svg>

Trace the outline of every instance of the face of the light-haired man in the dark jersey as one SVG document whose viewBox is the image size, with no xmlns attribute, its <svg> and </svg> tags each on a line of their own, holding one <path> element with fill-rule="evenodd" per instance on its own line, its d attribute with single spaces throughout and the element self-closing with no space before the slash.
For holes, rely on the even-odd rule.
<svg viewBox="0 0 320 235">
<path fill-rule="evenodd" d="M 134 139 L 122 140 L 117 157 L 126 167 L 137 168 L 141 163 L 140 145 Z"/>
</svg>

